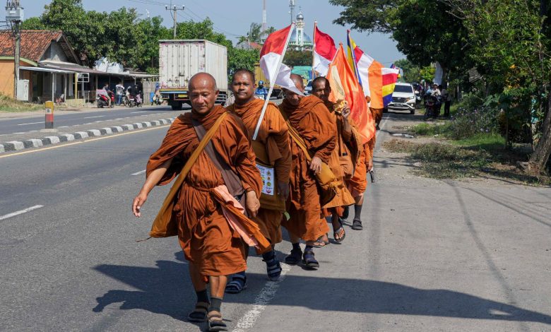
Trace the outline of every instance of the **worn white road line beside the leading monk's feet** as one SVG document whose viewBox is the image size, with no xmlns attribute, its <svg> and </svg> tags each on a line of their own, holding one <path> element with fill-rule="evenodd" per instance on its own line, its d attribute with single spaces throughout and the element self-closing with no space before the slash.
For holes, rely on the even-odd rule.
<svg viewBox="0 0 551 332">
<path fill-rule="evenodd" d="M 245 332 L 254 326 L 264 309 L 266 309 L 266 306 L 270 304 L 270 301 L 275 297 L 275 293 L 278 292 L 280 283 L 285 280 L 285 275 L 291 270 L 291 266 L 281 263 L 281 270 L 279 280 L 275 282 L 266 282 L 266 285 L 260 290 L 259 295 L 256 295 L 253 307 L 237 321 L 237 325 L 232 330 L 233 332 Z"/>
</svg>

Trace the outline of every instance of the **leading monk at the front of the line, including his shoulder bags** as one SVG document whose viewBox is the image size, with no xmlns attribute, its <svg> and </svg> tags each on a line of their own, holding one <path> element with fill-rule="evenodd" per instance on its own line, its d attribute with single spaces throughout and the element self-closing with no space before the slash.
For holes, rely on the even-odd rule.
<svg viewBox="0 0 551 332">
<path fill-rule="evenodd" d="M 150 235 L 177 235 L 189 261 L 197 295 L 189 321 L 208 321 L 208 331 L 226 331 L 220 314 L 227 275 L 244 271 L 242 241 L 269 243 L 243 214 L 259 209 L 261 177 L 247 129 L 234 114 L 215 106 L 218 89 L 213 76 L 198 73 L 189 81 L 191 112 L 181 114 L 150 156 L 146 182 L 134 198 L 136 217 L 155 185 L 175 180 Z M 206 286 L 210 285 L 209 299 Z"/>
</svg>

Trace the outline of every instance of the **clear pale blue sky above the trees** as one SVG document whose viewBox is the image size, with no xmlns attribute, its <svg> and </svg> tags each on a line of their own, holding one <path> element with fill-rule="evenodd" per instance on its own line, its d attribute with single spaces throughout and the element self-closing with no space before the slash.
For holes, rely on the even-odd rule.
<svg viewBox="0 0 551 332">
<path fill-rule="evenodd" d="M 25 18 L 40 16 L 44 11 L 47 0 L 20 0 L 25 8 Z M 161 16 L 167 26 L 172 26 L 172 16 L 165 10 L 165 4 L 170 0 L 83 0 L 87 10 L 113 11 L 122 6 L 138 9 L 143 17 Z M 172 0 L 172 4 L 186 6 L 184 11 L 178 12 L 178 20 L 203 20 L 207 16 L 213 20 L 215 29 L 223 32 L 230 39 L 235 40 L 239 35 L 244 35 L 249 30 L 251 23 L 262 22 L 262 0 Z M 295 0 L 295 16 L 299 11 L 304 15 L 305 32 L 312 37 L 314 20 L 318 21 L 318 27 L 333 37 L 336 43 L 343 42 L 346 45 L 346 29 L 340 25 L 334 25 L 332 21 L 338 18 L 340 8 L 332 6 L 324 0 Z M 266 0 L 267 24 L 276 29 L 284 28 L 290 24 L 288 0 Z M 403 59 L 405 56 L 396 49 L 390 35 L 374 33 L 367 35 L 365 32 L 352 30 L 352 38 L 356 44 L 367 54 L 386 66 L 393 61 Z"/>
</svg>

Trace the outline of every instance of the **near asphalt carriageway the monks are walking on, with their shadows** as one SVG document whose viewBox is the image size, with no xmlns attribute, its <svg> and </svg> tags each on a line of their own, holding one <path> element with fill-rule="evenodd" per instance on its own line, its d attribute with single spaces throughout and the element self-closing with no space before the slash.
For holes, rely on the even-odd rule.
<svg viewBox="0 0 551 332">
<path fill-rule="evenodd" d="M 379 143 L 401 117 L 385 115 Z M 165 131 L 0 157 L 0 331 L 201 331 L 177 239 L 136 242 L 169 188 L 130 212 Z M 551 331 L 551 189 L 423 179 L 376 155 L 365 230 L 278 283 L 252 255 L 249 288 L 225 297 L 230 328 Z"/>
</svg>

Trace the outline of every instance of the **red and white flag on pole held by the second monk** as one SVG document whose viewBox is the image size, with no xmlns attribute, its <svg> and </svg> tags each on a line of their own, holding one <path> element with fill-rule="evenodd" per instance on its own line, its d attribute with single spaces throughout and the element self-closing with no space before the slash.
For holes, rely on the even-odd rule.
<svg viewBox="0 0 551 332">
<path fill-rule="evenodd" d="M 293 28 L 295 23 L 268 35 L 260 52 L 260 68 L 272 85 L 277 84 L 281 88 L 304 95 L 291 81 L 291 69 L 282 63 Z"/>
</svg>

